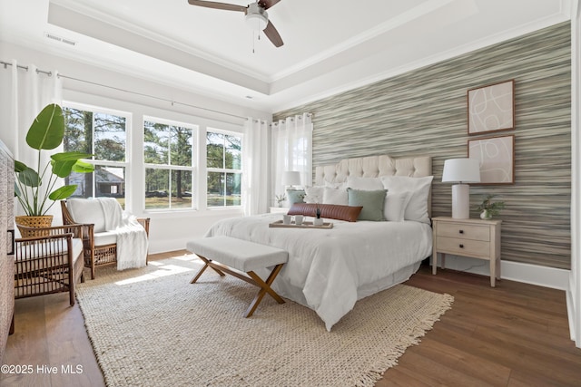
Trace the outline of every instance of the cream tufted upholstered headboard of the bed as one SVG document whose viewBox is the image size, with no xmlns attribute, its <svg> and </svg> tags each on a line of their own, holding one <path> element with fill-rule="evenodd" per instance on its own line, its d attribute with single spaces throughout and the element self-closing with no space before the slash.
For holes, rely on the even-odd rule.
<svg viewBox="0 0 581 387">
<path fill-rule="evenodd" d="M 316 186 L 325 182 L 342 183 L 349 176 L 379 178 L 381 176 L 409 176 L 424 178 L 432 175 L 431 156 L 394 159 L 388 155 L 367 156 L 340 160 L 337 164 L 315 168 Z M 431 214 L 431 191 L 428 197 L 428 213 Z"/>
</svg>

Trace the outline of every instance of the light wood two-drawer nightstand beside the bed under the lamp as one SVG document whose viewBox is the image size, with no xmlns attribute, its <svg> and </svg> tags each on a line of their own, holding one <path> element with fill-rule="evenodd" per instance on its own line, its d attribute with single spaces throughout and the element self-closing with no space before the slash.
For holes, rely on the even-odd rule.
<svg viewBox="0 0 581 387">
<path fill-rule="evenodd" d="M 438 253 L 442 256 L 442 268 L 446 254 L 469 256 L 490 261 L 490 285 L 500 279 L 500 225 L 502 220 L 432 218 L 434 246 L 432 250 L 432 274 L 438 267 Z"/>
</svg>

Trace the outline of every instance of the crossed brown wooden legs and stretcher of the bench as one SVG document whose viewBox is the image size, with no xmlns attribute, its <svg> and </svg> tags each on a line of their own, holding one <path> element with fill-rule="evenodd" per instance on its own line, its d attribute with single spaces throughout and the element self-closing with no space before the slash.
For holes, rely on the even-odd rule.
<svg viewBox="0 0 581 387">
<path fill-rule="evenodd" d="M 251 285 L 255 285 L 255 286 L 258 286 L 261 288 L 261 290 L 259 290 L 258 294 L 252 300 L 251 305 L 248 307 L 248 309 L 246 309 L 246 312 L 244 313 L 244 317 L 250 317 L 254 313 L 254 311 L 256 310 L 258 305 L 261 304 L 262 297 L 264 297 L 264 295 L 266 295 L 267 293 L 269 295 L 271 295 L 271 297 L 274 298 L 277 303 L 284 304 L 284 300 L 281 298 L 281 296 L 278 295 L 271 288 L 272 282 L 274 282 L 274 279 L 276 278 L 276 276 L 279 275 L 279 273 L 281 272 L 281 268 L 284 264 L 279 264 L 277 266 L 274 266 L 274 268 L 271 271 L 271 275 L 266 279 L 266 281 L 263 281 L 262 278 L 260 276 L 258 276 L 256 273 L 254 273 L 253 271 L 247 272 L 246 274 L 248 276 L 244 276 L 239 272 L 231 270 L 230 267 L 223 266 L 217 262 L 213 262 L 211 259 L 208 259 L 204 256 L 200 256 L 200 258 L 205 262 L 205 265 L 198 272 L 198 274 L 192 278 L 192 281 L 190 282 L 190 284 L 195 283 L 200 278 L 200 276 L 202 276 L 202 273 L 204 272 L 204 270 L 206 270 L 206 268 L 208 266 L 210 266 L 220 276 L 224 276 L 224 273 L 228 273 L 231 276 L 235 276 L 237 278 L 240 278 L 242 281 L 246 281 Z"/>
</svg>

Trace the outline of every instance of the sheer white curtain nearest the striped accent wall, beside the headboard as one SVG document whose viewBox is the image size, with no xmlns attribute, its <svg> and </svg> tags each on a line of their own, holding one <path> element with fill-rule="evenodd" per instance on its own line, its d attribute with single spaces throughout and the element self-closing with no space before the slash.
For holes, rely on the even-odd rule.
<svg viewBox="0 0 581 387">
<path fill-rule="evenodd" d="M 282 174 L 300 172 L 300 185 L 312 185 L 312 121 L 302 113 L 272 123 L 272 199 L 284 194 Z"/>
</svg>

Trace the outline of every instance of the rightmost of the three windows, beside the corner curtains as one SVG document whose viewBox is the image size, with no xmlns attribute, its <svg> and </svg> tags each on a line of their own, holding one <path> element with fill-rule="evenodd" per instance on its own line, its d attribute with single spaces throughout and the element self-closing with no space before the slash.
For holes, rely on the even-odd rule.
<svg viewBox="0 0 581 387">
<path fill-rule="evenodd" d="M 206 167 L 209 208 L 241 205 L 241 136 L 208 129 Z"/>
</svg>

